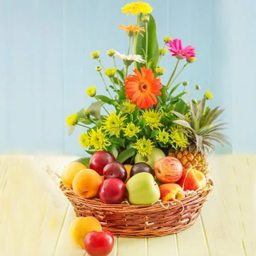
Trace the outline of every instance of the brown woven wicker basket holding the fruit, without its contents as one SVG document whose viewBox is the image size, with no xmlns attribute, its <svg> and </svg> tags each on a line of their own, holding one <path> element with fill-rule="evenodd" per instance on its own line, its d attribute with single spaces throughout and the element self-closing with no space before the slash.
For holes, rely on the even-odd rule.
<svg viewBox="0 0 256 256">
<path fill-rule="evenodd" d="M 153 205 L 105 204 L 99 199 L 83 199 L 60 182 L 60 189 L 74 206 L 77 217 L 97 218 L 103 230 L 116 237 L 150 238 L 166 236 L 187 229 L 200 215 L 213 183 L 198 191 L 186 193 L 181 201 L 157 202 Z"/>
</svg>

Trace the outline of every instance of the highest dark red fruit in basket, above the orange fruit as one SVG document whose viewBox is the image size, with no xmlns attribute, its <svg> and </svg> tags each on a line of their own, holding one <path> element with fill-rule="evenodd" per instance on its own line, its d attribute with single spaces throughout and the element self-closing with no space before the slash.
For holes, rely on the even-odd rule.
<svg viewBox="0 0 256 256">
<path fill-rule="evenodd" d="M 103 168 L 111 162 L 115 162 L 115 157 L 107 151 L 98 151 L 90 159 L 90 168 L 96 170 L 99 175 L 103 175 Z"/>
</svg>

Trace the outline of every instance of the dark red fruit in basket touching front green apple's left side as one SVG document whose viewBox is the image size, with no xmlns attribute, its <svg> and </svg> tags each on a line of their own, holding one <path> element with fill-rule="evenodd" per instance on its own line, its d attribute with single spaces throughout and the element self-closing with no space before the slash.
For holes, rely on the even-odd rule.
<svg viewBox="0 0 256 256">
<path fill-rule="evenodd" d="M 126 187 L 122 180 L 108 178 L 99 187 L 99 198 L 106 204 L 120 204 L 125 197 Z"/>
</svg>

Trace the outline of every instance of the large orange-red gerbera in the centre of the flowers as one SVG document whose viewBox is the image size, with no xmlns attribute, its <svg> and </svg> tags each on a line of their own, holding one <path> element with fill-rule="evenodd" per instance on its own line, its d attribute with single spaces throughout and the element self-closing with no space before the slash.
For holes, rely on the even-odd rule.
<svg viewBox="0 0 256 256">
<path fill-rule="evenodd" d="M 135 69 L 135 75 L 125 78 L 125 94 L 131 103 L 137 103 L 139 109 L 147 109 L 157 104 L 155 95 L 161 95 L 162 84 L 159 78 L 154 78 L 152 69 L 145 67 L 140 71 Z"/>
</svg>

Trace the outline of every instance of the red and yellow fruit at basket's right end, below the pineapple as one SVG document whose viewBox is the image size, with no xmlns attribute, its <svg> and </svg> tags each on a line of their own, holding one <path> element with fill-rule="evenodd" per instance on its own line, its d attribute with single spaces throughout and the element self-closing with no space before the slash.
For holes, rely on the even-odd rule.
<svg viewBox="0 0 256 256">
<path fill-rule="evenodd" d="M 182 172 L 178 184 L 183 187 L 184 190 L 197 190 L 198 188 L 206 187 L 206 178 L 204 174 L 196 168 L 185 169 Z"/>
</svg>

